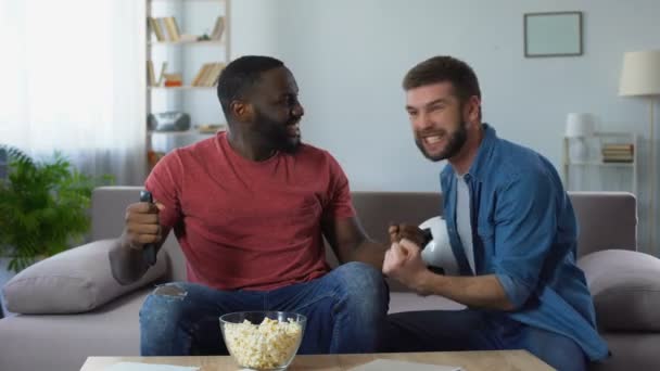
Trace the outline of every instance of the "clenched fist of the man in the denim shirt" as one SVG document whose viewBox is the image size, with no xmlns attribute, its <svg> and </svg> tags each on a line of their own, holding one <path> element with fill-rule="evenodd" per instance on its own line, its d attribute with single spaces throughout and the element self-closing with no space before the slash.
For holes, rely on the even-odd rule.
<svg viewBox="0 0 660 371">
<path fill-rule="evenodd" d="M 422 278 L 428 272 L 429 269 L 421 259 L 421 248 L 407 239 L 392 243 L 392 246 L 385 253 L 383 273 L 415 290 L 420 295 L 430 294 L 421 290 Z"/>
</svg>

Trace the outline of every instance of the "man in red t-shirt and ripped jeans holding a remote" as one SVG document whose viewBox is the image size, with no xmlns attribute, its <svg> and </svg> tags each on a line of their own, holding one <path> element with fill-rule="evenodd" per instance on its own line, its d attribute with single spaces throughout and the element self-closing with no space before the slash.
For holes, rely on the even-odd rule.
<svg viewBox="0 0 660 371">
<path fill-rule="evenodd" d="M 174 230 L 188 282 L 158 286 L 140 311 L 141 354 L 226 353 L 218 317 L 243 310 L 307 317 L 300 353 L 376 351 L 388 310 L 385 247 L 361 230 L 348 180 L 326 151 L 301 143 L 297 85 L 282 62 L 243 56 L 218 80 L 229 131 L 175 150 L 128 206 L 110 254 L 115 278 L 149 269 Z M 342 265 L 330 270 L 326 236 Z"/>
</svg>

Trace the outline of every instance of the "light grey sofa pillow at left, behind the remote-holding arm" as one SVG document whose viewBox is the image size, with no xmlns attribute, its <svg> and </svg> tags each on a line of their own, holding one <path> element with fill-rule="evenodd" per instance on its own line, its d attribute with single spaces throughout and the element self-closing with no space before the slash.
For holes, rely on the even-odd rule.
<svg viewBox="0 0 660 371">
<path fill-rule="evenodd" d="M 3 287 L 12 312 L 54 315 L 84 312 L 166 273 L 167 255 L 158 252 L 155 266 L 138 282 L 120 285 L 112 277 L 107 252 L 113 240 L 101 240 L 39 261 Z"/>
</svg>

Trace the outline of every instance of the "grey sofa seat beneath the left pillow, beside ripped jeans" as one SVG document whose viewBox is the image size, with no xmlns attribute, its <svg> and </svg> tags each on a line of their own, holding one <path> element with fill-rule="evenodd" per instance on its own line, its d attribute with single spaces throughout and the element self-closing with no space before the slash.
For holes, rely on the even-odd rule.
<svg viewBox="0 0 660 371">
<path fill-rule="evenodd" d="M 91 356 L 139 356 L 139 311 L 152 290 L 148 285 L 85 314 L 0 320 L 0 370 L 72 371 Z"/>
</svg>

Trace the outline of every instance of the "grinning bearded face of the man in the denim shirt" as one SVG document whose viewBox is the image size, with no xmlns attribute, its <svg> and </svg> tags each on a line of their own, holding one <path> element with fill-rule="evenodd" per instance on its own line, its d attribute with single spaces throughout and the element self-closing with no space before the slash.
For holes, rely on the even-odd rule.
<svg viewBox="0 0 660 371">
<path fill-rule="evenodd" d="M 406 91 L 415 143 L 427 158 L 448 159 L 460 152 L 468 138 L 464 107 L 449 81 Z"/>
</svg>

